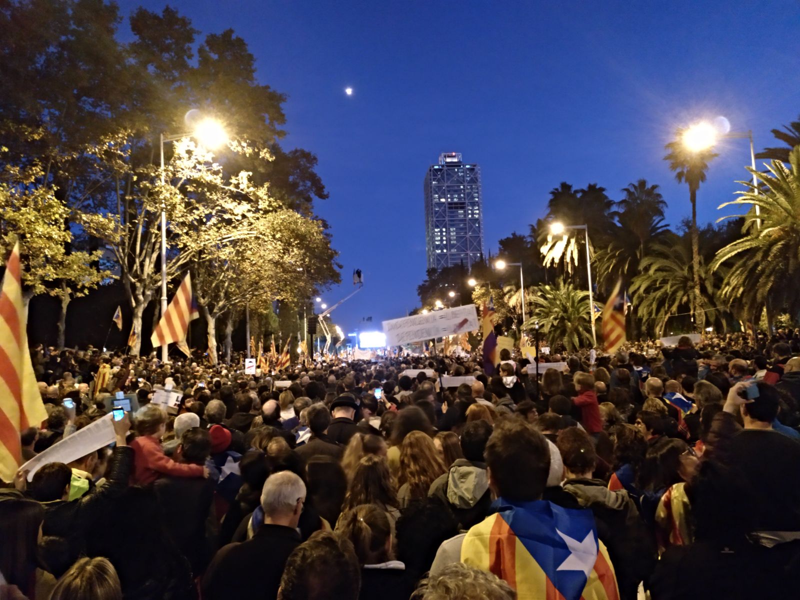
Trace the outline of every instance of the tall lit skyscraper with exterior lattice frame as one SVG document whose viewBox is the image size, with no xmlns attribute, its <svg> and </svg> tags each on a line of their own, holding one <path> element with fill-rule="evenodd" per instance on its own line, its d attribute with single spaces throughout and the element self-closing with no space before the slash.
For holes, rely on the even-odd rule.
<svg viewBox="0 0 800 600">
<path fill-rule="evenodd" d="M 428 268 L 469 268 L 483 256 L 480 167 L 464 164 L 458 152 L 441 154 L 424 186 Z"/>
</svg>

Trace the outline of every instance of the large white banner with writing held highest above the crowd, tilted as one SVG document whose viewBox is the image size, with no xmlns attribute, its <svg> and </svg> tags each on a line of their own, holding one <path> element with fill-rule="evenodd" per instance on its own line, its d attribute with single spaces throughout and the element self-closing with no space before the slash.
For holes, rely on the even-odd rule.
<svg viewBox="0 0 800 600">
<path fill-rule="evenodd" d="M 474 304 L 434 310 L 427 314 L 415 314 L 413 317 L 393 318 L 383 322 L 386 346 L 424 342 L 477 329 L 478 309 Z"/>
</svg>

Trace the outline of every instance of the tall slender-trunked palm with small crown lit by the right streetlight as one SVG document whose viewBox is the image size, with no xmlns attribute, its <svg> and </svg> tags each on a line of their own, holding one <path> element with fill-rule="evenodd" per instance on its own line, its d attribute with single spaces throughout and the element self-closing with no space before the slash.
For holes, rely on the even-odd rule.
<svg viewBox="0 0 800 600">
<path fill-rule="evenodd" d="M 678 128 L 675 133 L 674 141 L 668 143 L 665 148 L 669 150 L 664 160 L 670 162 L 670 170 L 675 171 L 675 179 L 678 183 L 686 182 L 689 185 L 689 200 L 692 203 L 692 270 L 694 272 L 693 284 L 694 294 L 693 298 L 700 298 L 700 250 L 698 248 L 698 189 L 700 184 L 706 181 L 706 170 L 708 170 L 708 163 L 717 158 L 710 148 L 705 150 L 692 151 L 689 150 L 683 143 L 682 128 Z M 694 322 L 696 325 L 702 327 L 703 319 L 702 314 L 699 313 L 697 306 L 692 308 L 694 313 Z"/>
</svg>

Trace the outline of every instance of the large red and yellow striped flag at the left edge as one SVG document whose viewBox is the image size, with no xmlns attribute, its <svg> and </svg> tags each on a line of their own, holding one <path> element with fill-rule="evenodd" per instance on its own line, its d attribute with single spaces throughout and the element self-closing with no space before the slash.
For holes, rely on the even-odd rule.
<svg viewBox="0 0 800 600">
<path fill-rule="evenodd" d="M 0 291 L 0 478 L 6 482 L 14 481 L 22 462 L 20 432 L 47 418 L 30 363 L 26 325 L 17 242 Z"/>
</svg>

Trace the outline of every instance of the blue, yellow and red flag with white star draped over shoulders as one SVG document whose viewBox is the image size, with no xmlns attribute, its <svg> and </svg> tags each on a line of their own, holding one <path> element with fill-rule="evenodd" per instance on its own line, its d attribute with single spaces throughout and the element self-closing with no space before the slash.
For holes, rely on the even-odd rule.
<svg viewBox="0 0 800 600">
<path fill-rule="evenodd" d="M 509 502 L 467 532 L 461 561 L 504 579 L 519 600 L 619 600 L 617 578 L 590 510 L 546 500 Z"/>
</svg>

